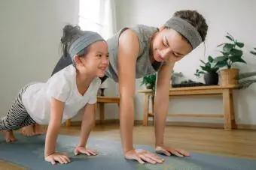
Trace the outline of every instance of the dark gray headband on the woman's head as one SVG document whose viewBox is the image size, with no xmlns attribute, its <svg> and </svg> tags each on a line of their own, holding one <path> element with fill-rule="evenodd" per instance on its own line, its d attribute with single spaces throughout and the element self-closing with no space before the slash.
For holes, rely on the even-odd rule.
<svg viewBox="0 0 256 170">
<path fill-rule="evenodd" d="M 165 23 L 165 26 L 178 31 L 180 34 L 186 37 L 193 49 L 197 48 L 197 46 L 202 43 L 202 37 L 197 29 L 184 19 L 174 16 Z"/>
</svg>

